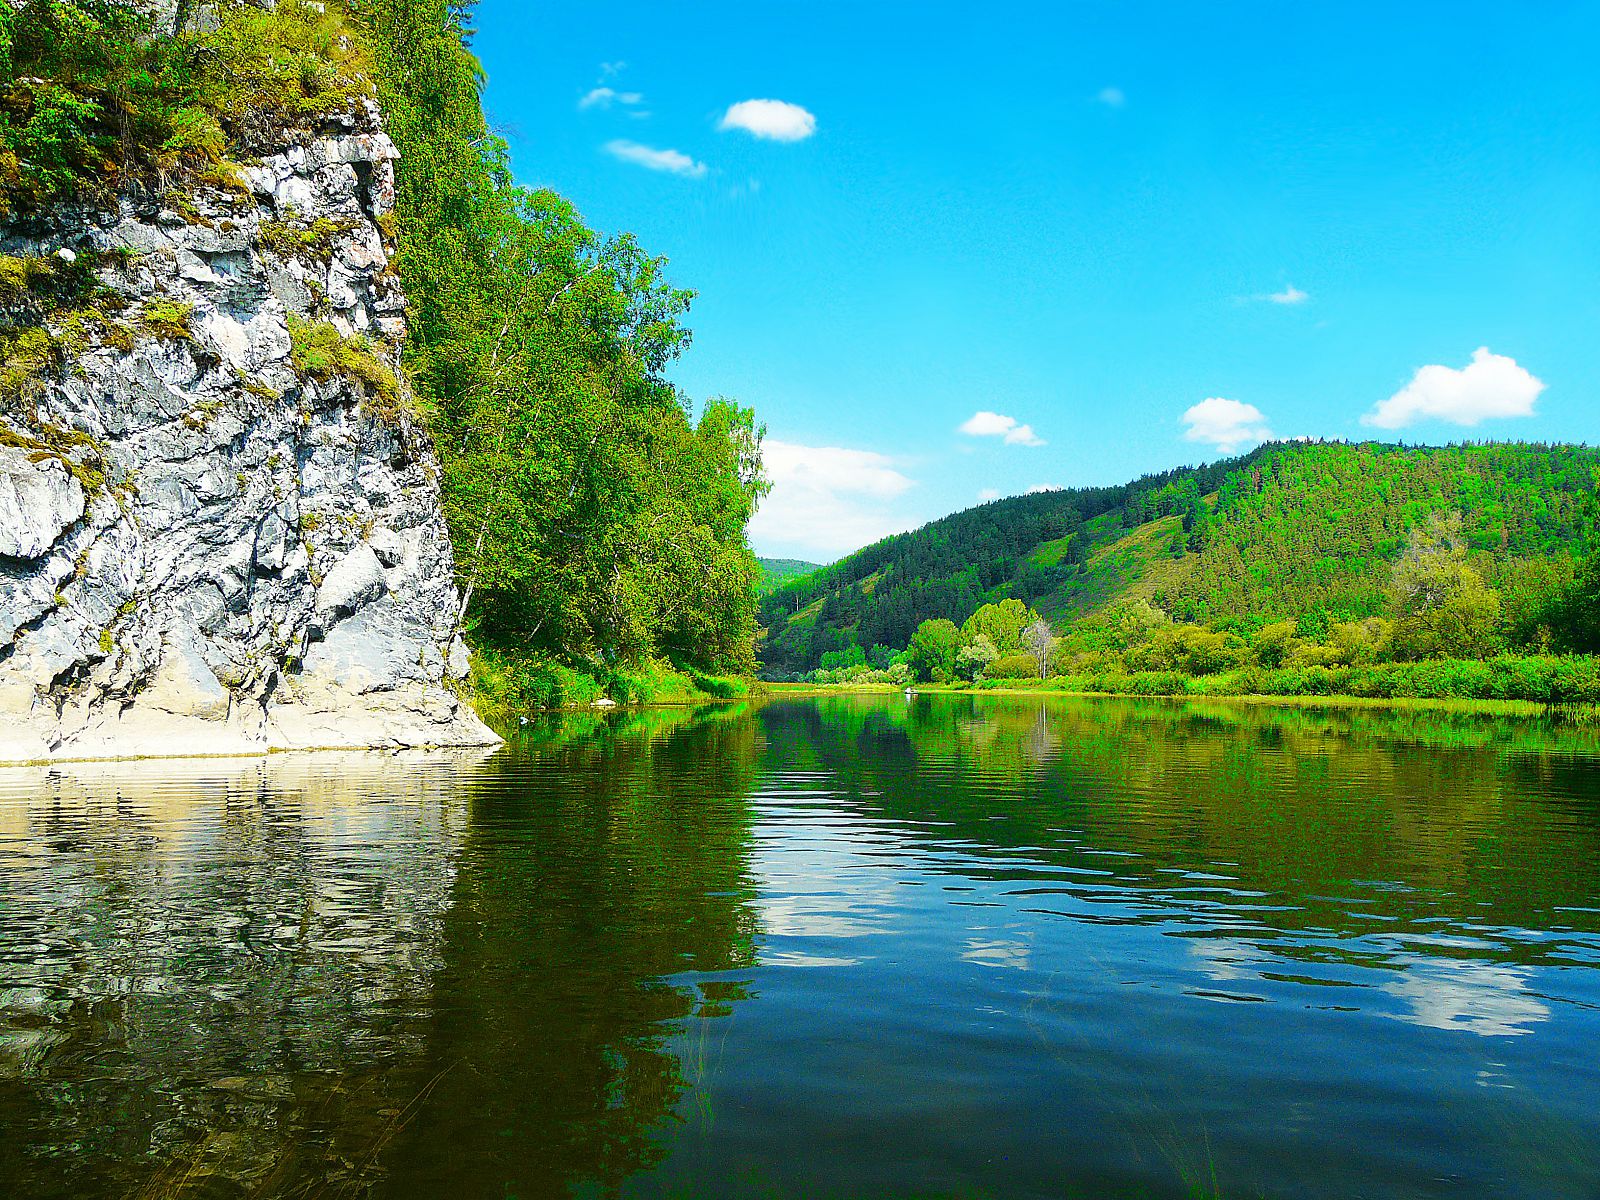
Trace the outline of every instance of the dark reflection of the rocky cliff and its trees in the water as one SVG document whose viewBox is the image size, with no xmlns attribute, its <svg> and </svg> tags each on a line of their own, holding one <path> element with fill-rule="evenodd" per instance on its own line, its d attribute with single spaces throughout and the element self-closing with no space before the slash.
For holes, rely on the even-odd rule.
<svg viewBox="0 0 1600 1200">
<path fill-rule="evenodd" d="M 0 773 L 0 1195 L 544 1195 L 648 1165 L 686 1086 L 662 1022 L 744 994 L 661 976 L 754 962 L 750 738 L 675 712 L 496 758 Z"/>
</svg>

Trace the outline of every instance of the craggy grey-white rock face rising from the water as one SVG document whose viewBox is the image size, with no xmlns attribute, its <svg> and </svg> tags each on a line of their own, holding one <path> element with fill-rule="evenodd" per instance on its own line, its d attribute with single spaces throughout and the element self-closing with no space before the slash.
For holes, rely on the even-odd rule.
<svg viewBox="0 0 1600 1200">
<path fill-rule="evenodd" d="M 498 741 L 389 386 L 394 144 L 365 107 L 270 149 L 0 227 L 109 314 L 0 406 L 0 762 Z"/>
</svg>

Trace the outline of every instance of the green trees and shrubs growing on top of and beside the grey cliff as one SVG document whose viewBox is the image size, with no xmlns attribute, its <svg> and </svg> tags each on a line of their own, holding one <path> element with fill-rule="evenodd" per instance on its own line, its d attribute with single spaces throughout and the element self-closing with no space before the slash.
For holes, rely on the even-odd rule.
<svg viewBox="0 0 1600 1200">
<path fill-rule="evenodd" d="M 648 683 L 661 672 L 720 688 L 755 669 L 746 525 L 766 486 L 762 427 L 667 381 L 693 293 L 664 259 L 512 182 L 483 117 L 470 8 L 224 0 L 194 19 L 181 3 L 160 26 L 131 0 L 0 5 L 0 219 L 130 189 L 190 214 L 184 187 L 240 190 L 254 154 L 347 128 L 376 101 L 402 150 L 384 232 L 408 298 L 408 378 L 315 317 L 291 320 L 293 362 L 426 422 L 485 706 L 662 694 Z M 325 254 L 341 232 L 283 218 L 262 230 L 277 256 Z M 0 262 L 0 392 L 78 349 L 58 333 L 64 306 L 38 302 L 62 275 L 91 278 Z M 189 314 L 160 298 L 136 322 L 189 336 Z"/>
</svg>

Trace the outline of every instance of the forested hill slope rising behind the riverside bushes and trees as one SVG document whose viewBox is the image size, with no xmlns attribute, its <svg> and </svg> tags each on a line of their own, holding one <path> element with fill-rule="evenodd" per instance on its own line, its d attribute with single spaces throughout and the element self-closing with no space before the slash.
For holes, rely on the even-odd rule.
<svg viewBox="0 0 1600 1200">
<path fill-rule="evenodd" d="M 1587 446 L 1275 443 L 1122 486 L 992 501 L 766 595 L 762 658 L 773 677 L 856 646 L 886 662 L 922 621 L 962 622 L 1011 597 L 1058 629 L 1139 600 L 1178 621 L 1326 627 L 1381 613 L 1408 531 L 1451 512 L 1501 592 L 1507 637 L 1523 637 L 1600 546 L 1597 474 Z"/>
</svg>

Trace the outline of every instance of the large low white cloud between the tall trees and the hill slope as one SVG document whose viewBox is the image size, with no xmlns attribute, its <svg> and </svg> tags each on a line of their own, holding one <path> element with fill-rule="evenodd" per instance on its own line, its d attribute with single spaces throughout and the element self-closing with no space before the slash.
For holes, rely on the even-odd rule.
<svg viewBox="0 0 1600 1200">
<path fill-rule="evenodd" d="M 768 438 L 762 459 L 773 491 L 750 520 L 757 544 L 837 558 L 914 523 L 890 512 L 917 483 L 886 454 Z"/>
</svg>

